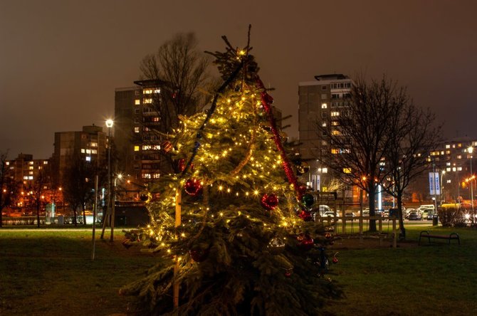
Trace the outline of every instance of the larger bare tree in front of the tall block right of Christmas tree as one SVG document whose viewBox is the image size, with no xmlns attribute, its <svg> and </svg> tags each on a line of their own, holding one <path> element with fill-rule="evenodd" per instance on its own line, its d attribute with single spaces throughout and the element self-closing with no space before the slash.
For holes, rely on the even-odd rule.
<svg viewBox="0 0 477 316">
<path fill-rule="evenodd" d="M 319 137 L 331 147 L 331 154 L 323 157 L 323 162 L 345 184 L 356 185 L 369 194 L 369 215 L 375 216 L 377 186 L 389 173 L 382 164 L 392 146 L 392 130 L 397 128 L 407 95 L 404 88 L 385 76 L 371 83 L 358 76 L 349 101 L 339 115 L 332 117 L 332 124 L 318 125 Z M 369 221 L 369 231 L 376 231 L 376 221 Z"/>
</svg>

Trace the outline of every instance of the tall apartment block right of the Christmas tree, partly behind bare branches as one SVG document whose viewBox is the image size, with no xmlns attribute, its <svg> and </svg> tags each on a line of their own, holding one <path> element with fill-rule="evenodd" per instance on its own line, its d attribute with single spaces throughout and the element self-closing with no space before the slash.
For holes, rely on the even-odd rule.
<svg viewBox="0 0 477 316">
<path fill-rule="evenodd" d="M 347 75 L 315 75 L 314 81 L 298 84 L 298 132 L 301 157 L 310 164 L 308 185 L 327 191 L 330 175 L 323 157 L 332 152 L 330 142 L 318 135 L 318 125 L 332 127 L 334 117 L 350 101 L 352 80 Z"/>
</svg>

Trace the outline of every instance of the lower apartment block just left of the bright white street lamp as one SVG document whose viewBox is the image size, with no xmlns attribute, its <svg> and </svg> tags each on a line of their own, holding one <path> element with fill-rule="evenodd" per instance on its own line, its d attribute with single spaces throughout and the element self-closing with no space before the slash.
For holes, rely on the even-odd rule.
<svg viewBox="0 0 477 316">
<path fill-rule="evenodd" d="M 100 126 L 83 126 L 81 131 L 56 132 L 52 163 L 59 176 L 59 184 L 62 185 L 66 169 L 70 167 L 74 157 L 81 157 L 97 167 L 104 167 L 108 159 L 108 147 L 108 135 Z"/>
</svg>

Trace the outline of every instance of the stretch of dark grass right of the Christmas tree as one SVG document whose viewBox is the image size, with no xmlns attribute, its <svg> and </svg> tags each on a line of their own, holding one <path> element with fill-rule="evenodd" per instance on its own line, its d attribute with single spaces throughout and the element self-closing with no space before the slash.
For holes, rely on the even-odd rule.
<svg viewBox="0 0 477 316">
<path fill-rule="evenodd" d="M 476 315 L 477 231 L 470 228 L 407 226 L 407 239 L 420 231 L 456 241 L 427 240 L 423 246 L 340 251 L 330 275 L 347 298 L 327 305 L 335 315 Z"/>
</svg>

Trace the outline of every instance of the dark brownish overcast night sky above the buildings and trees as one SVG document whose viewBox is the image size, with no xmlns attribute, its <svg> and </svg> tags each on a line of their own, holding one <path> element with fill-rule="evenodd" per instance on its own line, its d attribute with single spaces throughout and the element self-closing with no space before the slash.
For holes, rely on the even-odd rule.
<svg viewBox="0 0 477 316">
<path fill-rule="evenodd" d="M 104 125 L 115 88 L 132 86 L 142 57 L 179 32 L 200 48 L 221 36 L 252 53 L 298 137 L 298 83 L 325 73 L 389 78 L 445 122 L 477 137 L 477 1 L 0 0 L 0 152 L 36 159 L 54 132 Z"/>
</svg>

